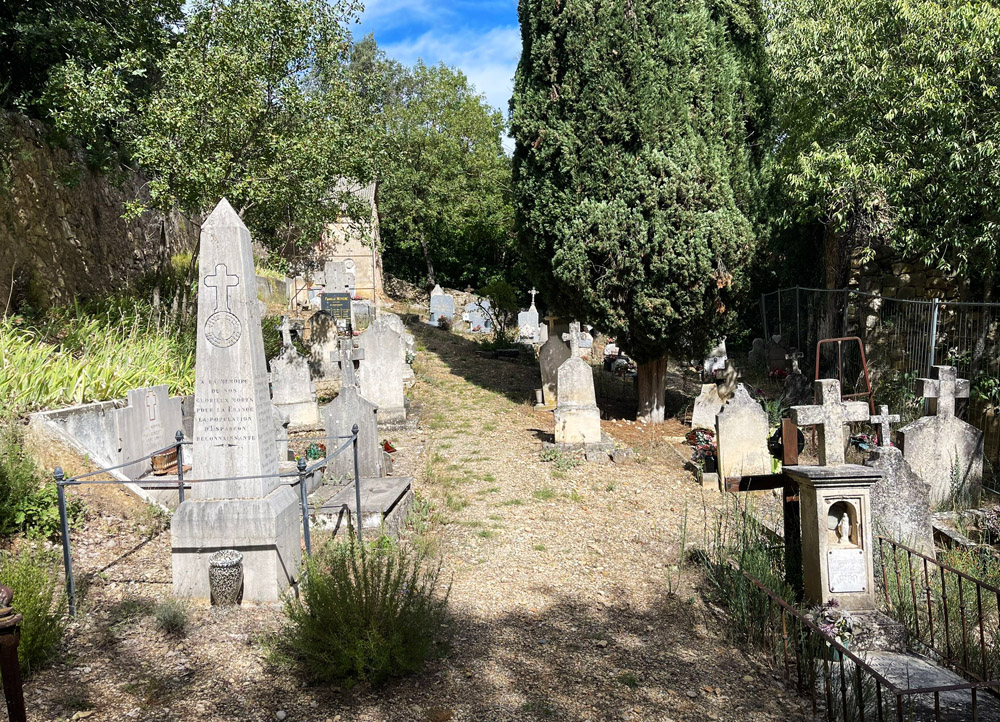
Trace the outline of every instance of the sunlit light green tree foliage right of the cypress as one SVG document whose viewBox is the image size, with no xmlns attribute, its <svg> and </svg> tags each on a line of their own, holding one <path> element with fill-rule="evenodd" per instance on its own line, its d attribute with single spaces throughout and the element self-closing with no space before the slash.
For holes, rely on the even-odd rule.
<svg viewBox="0 0 1000 722">
<path fill-rule="evenodd" d="M 786 227 L 819 221 L 842 253 L 888 246 L 991 286 L 1000 5 L 771 5 Z"/>
</svg>

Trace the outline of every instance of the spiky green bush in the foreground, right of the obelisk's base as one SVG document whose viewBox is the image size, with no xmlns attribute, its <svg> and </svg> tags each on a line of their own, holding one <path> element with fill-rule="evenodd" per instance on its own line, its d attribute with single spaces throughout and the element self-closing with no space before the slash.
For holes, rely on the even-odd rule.
<svg viewBox="0 0 1000 722">
<path fill-rule="evenodd" d="M 313 680 L 350 687 L 418 670 L 443 625 L 440 565 L 393 542 L 328 544 L 306 564 L 275 651 Z"/>
</svg>

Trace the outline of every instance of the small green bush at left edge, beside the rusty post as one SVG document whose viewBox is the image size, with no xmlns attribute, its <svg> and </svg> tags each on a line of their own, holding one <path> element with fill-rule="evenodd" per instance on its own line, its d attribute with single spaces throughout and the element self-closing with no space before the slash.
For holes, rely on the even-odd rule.
<svg viewBox="0 0 1000 722">
<path fill-rule="evenodd" d="M 52 661 L 65 631 L 66 598 L 57 591 L 58 557 L 40 547 L 25 546 L 0 557 L 0 584 L 14 590 L 14 609 L 21 622 L 17 656 L 25 674 Z"/>
</svg>

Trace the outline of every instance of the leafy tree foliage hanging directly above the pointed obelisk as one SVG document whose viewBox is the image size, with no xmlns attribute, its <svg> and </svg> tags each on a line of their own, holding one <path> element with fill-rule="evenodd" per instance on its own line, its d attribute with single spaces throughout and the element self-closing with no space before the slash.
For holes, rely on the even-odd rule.
<svg viewBox="0 0 1000 722">
<path fill-rule="evenodd" d="M 312 241 L 341 212 L 337 179 L 370 177 L 373 134 L 343 77 L 353 0 L 195 0 L 152 93 L 141 54 L 73 58 L 50 83 L 54 117 L 89 140 L 114 129 L 149 175 L 135 210 L 209 210 L 227 197 L 255 237 Z M 369 122 L 366 122 L 369 121 Z"/>
</svg>

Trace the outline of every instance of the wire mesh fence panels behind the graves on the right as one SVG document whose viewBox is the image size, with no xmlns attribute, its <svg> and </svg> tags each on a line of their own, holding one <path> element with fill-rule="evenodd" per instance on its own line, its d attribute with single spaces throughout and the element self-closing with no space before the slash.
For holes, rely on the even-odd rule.
<svg viewBox="0 0 1000 722">
<path fill-rule="evenodd" d="M 864 390 L 857 344 L 823 346 L 822 339 L 861 339 L 876 402 L 904 413 L 913 405 L 914 383 L 930 367 L 958 367 L 969 379 L 971 398 L 964 417 L 985 435 L 985 452 L 1000 490 L 1000 303 L 957 303 L 886 298 L 847 289 L 783 288 L 761 296 L 764 338 L 780 335 L 782 343 L 805 354 L 802 370 L 819 378 L 844 370 L 844 392 Z"/>
</svg>

